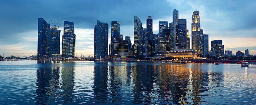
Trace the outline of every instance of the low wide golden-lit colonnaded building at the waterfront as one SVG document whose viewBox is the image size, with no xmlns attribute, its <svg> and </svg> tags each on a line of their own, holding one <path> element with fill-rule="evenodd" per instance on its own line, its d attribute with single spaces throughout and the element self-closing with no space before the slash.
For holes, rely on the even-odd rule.
<svg viewBox="0 0 256 105">
<path fill-rule="evenodd" d="M 166 56 L 172 56 L 177 58 L 198 58 L 197 55 L 200 52 L 195 49 L 175 49 L 170 50 L 169 54 Z"/>
</svg>

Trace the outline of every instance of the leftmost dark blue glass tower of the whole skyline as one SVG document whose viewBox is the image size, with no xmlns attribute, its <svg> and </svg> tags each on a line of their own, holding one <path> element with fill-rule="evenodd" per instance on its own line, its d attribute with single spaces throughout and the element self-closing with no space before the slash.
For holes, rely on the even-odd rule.
<svg viewBox="0 0 256 105">
<path fill-rule="evenodd" d="M 49 53 L 49 30 L 50 24 L 46 23 L 43 18 L 38 18 L 38 43 L 37 57 L 38 59 L 46 58 Z"/>
</svg>

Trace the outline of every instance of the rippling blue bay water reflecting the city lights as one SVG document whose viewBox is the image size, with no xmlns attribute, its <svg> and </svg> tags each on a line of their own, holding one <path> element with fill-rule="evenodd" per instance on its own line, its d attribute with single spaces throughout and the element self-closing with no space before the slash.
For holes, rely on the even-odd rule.
<svg viewBox="0 0 256 105">
<path fill-rule="evenodd" d="M 0 104 L 256 104 L 256 66 L 0 61 Z"/>
</svg>

